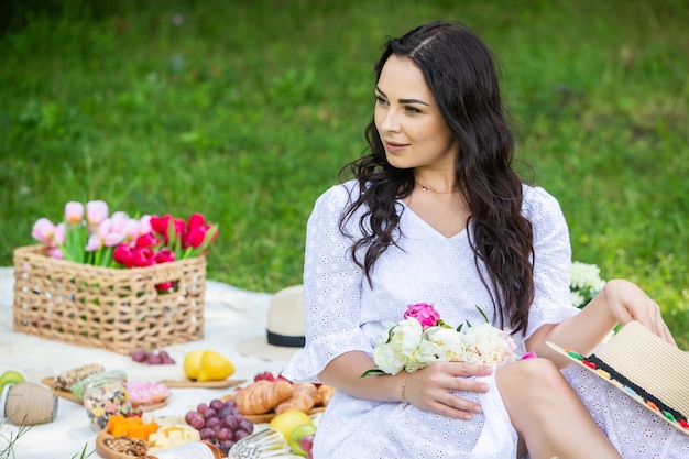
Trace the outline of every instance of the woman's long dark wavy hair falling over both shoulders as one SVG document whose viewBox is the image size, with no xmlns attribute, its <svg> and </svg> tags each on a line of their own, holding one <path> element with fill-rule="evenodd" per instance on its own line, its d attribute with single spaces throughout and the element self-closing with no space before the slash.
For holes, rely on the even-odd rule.
<svg viewBox="0 0 689 459">
<path fill-rule="evenodd" d="M 501 327 L 507 318 L 514 334 L 525 331 L 534 299 L 533 228 L 521 212 L 522 181 L 512 167 L 514 138 L 505 120 L 492 53 L 463 25 L 438 21 L 389 39 L 374 67 L 375 81 L 391 55 L 412 59 L 423 72 L 458 140 L 455 171 L 471 214 L 471 231 L 466 233 L 477 270 L 491 293 Z M 396 200 L 412 193 L 414 174 L 390 165 L 373 120 L 365 138 L 368 154 L 340 172 L 341 179 L 353 173 L 362 190 L 342 214 L 340 230 L 348 234 L 347 222 L 359 208 L 364 209 L 359 220 L 363 236 L 354 241 L 351 254 L 371 283 L 376 260 L 396 243 Z M 481 262 L 488 278 L 479 269 Z"/>
</svg>

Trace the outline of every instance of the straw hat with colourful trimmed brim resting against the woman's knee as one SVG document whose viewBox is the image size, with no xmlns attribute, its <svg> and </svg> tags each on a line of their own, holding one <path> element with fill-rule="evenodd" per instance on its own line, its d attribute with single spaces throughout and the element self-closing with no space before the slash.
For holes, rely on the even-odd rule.
<svg viewBox="0 0 689 459">
<path fill-rule="evenodd" d="M 689 353 L 634 320 L 588 357 L 556 351 L 613 384 L 663 420 L 689 435 Z"/>
</svg>

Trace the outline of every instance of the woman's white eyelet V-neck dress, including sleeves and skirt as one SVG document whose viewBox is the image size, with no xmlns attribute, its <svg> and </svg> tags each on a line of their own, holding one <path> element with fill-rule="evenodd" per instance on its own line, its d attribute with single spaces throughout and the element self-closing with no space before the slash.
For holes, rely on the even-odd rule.
<svg viewBox="0 0 689 459">
<path fill-rule="evenodd" d="M 321 195 L 307 226 L 304 286 L 306 346 L 283 374 L 293 381 L 317 381 L 333 358 L 352 350 L 372 354 L 383 321 L 397 321 L 406 306 L 431 303 L 452 325 L 480 324 L 477 306 L 495 323 L 489 294 L 479 280 L 467 231 L 447 238 L 398 201 L 402 237 L 378 260 L 370 288 L 350 256 L 351 240 L 338 222 L 352 181 Z M 557 200 L 543 188 L 524 186 L 523 214 L 534 226 L 536 296 L 525 335 L 578 313 L 569 304 L 571 249 Z M 359 217 L 349 222 L 357 236 Z M 689 458 L 689 437 L 636 408 L 627 396 L 576 367 L 565 370 L 599 425 L 625 458 Z M 371 402 L 336 391 L 316 435 L 316 459 L 515 458 L 516 431 L 508 420 L 494 378 L 486 394 L 458 393 L 479 401 L 482 415 L 472 420 L 447 418 L 402 403 Z M 557 414 L 554 414 L 556 416 Z M 642 434 L 638 434 L 642 429 Z M 565 435 L 567 435 L 565 433 Z M 681 438 L 680 438 L 681 437 Z"/>
</svg>

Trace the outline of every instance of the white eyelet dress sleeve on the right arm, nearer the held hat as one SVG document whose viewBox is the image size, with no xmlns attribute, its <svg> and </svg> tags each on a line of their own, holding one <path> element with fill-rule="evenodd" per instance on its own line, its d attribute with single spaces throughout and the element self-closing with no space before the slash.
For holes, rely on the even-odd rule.
<svg viewBox="0 0 689 459">
<path fill-rule="evenodd" d="M 557 324 L 576 314 L 569 293 L 571 245 L 569 228 L 559 203 L 543 188 L 526 188 L 525 216 L 534 227 L 534 283 L 536 294 L 528 316 L 528 338 L 545 324 Z"/>
</svg>

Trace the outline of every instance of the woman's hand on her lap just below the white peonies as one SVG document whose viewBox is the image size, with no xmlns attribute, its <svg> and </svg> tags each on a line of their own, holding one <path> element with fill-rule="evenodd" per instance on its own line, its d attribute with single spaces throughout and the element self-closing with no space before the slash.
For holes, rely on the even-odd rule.
<svg viewBox="0 0 689 459">
<path fill-rule="evenodd" d="M 419 409 L 456 419 L 471 419 L 472 413 L 481 413 L 481 405 L 460 398 L 451 391 L 485 393 L 488 384 L 469 379 L 488 376 L 492 367 L 463 362 L 435 362 L 422 370 L 406 374 L 404 401 Z"/>
</svg>

